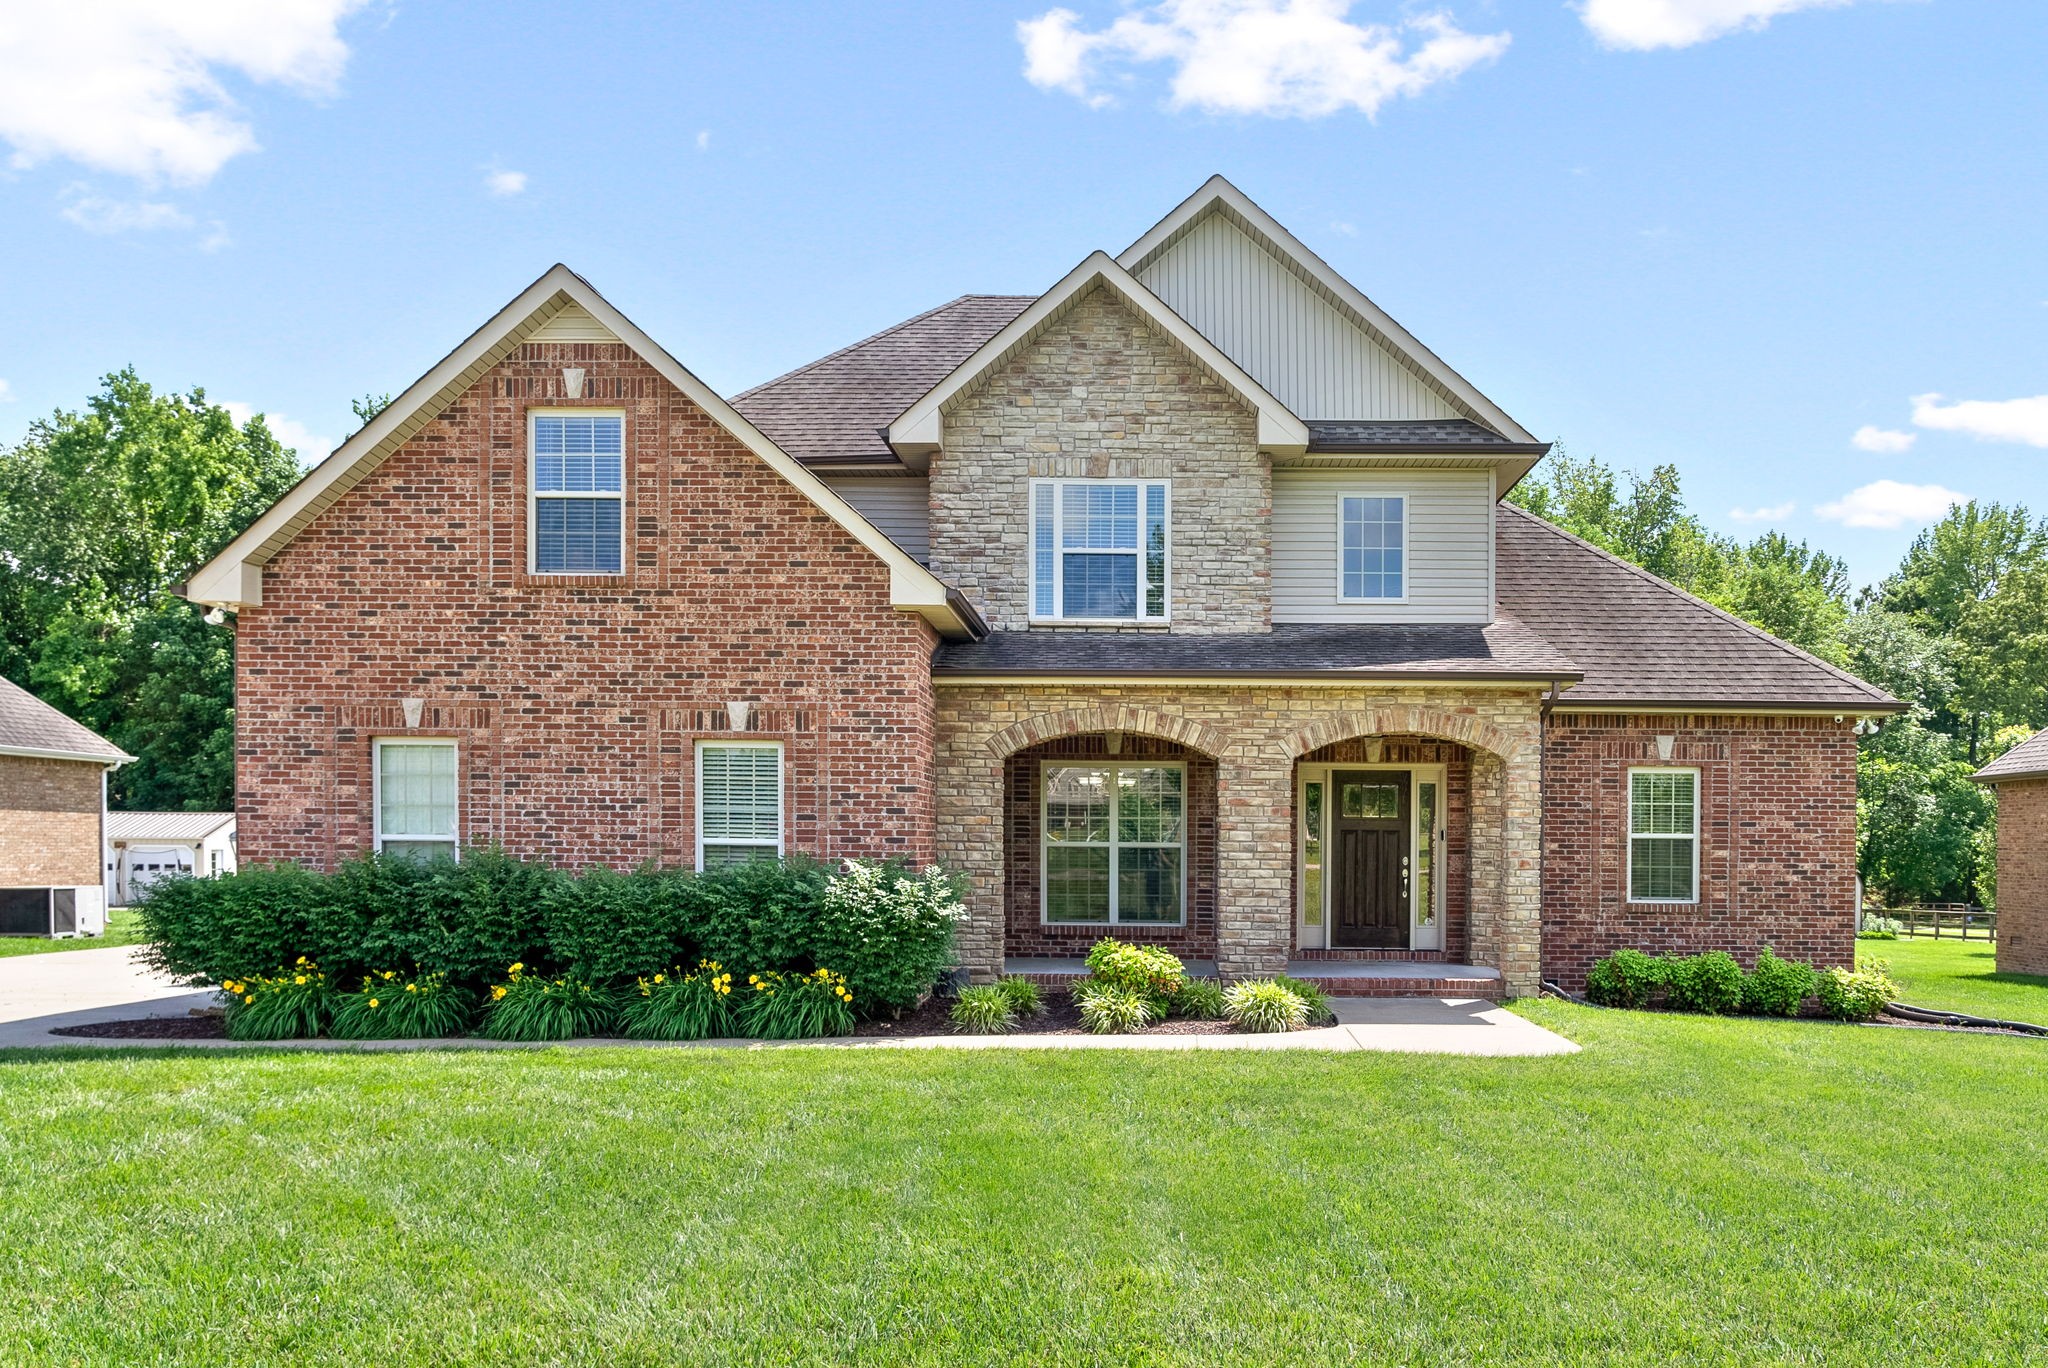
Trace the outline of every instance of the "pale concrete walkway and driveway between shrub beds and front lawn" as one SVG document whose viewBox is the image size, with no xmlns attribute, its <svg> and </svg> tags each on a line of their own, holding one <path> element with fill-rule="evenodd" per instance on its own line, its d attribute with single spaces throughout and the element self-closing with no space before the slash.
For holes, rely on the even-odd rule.
<svg viewBox="0 0 2048 1368">
<path fill-rule="evenodd" d="M 57 1036 L 55 1026 L 119 1022 L 139 1016 L 186 1016 L 217 1001 L 211 991 L 166 983 L 135 963 L 131 946 L 59 950 L 0 958 L 0 1049 L 541 1049 L 500 1040 L 109 1040 Z M 838 1040 L 696 1040 L 688 1046 L 647 1040 L 569 1040 L 578 1049 L 975 1049 L 975 1051 L 1389 1051 L 1405 1055 L 1573 1055 L 1577 1044 L 1497 1003 L 1473 997 L 1333 997 L 1335 1026 L 1274 1036 L 850 1036 Z"/>
</svg>

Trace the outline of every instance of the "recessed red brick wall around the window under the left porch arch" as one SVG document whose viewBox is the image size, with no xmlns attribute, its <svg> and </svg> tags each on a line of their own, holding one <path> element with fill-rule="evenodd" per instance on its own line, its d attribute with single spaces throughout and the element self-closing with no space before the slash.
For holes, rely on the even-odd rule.
<svg viewBox="0 0 2048 1368">
<path fill-rule="evenodd" d="M 1180 760 L 1188 766 L 1186 926 L 1044 926 L 1040 922 L 1040 805 L 1047 760 L 1108 760 L 1102 735 L 1061 737 L 1004 762 L 1004 952 L 1087 954 L 1104 936 L 1161 946 L 1182 958 L 1217 958 L 1217 762 L 1159 737 L 1122 737 L 1116 760 Z"/>
</svg>

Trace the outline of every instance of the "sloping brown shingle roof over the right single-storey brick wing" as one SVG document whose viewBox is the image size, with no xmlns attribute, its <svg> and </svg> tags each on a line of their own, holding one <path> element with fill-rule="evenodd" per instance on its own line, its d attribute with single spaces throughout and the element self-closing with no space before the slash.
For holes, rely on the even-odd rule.
<svg viewBox="0 0 2048 1368">
<path fill-rule="evenodd" d="M 1896 711 L 1882 688 L 1608 555 L 1511 504 L 1495 508 L 1501 612 L 1569 653 L 1565 704 Z"/>
</svg>

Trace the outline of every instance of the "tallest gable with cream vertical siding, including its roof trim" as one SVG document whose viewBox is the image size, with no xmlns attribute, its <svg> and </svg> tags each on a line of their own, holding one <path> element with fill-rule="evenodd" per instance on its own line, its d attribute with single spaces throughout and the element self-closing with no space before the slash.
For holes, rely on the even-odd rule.
<svg viewBox="0 0 2048 1368">
<path fill-rule="evenodd" d="M 1303 418 L 1470 418 L 1536 440 L 1223 176 L 1116 260 Z"/>
</svg>

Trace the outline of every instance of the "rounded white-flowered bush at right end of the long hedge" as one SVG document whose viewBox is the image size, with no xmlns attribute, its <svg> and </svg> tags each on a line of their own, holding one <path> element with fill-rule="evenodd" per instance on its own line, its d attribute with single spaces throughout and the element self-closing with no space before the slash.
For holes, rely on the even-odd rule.
<svg viewBox="0 0 2048 1368">
<path fill-rule="evenodd" d="M 811 954 L 846 975 L 860 1012 L 909 1008 L 952 963 L 965 915 L 961 881 L 936 864 L 846 860 L 825 883 Z"/>
</svg>

